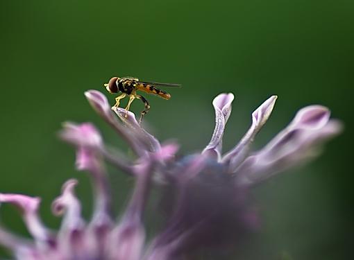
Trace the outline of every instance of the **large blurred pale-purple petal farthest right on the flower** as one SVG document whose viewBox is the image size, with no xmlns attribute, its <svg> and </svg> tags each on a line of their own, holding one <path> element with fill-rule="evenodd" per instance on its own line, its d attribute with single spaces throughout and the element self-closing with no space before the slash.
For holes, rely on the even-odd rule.
<svg viewBox="0 0 354 260">
<path fill-rule="evenodd" d="M 287 128 L 237 168 L 237 181 L 255 184 L 317 156 L 319 146 L 342 131 L 342 123 L 329 116 L 329 110 L 320 105 L 300 110 Z"/>
</svg>

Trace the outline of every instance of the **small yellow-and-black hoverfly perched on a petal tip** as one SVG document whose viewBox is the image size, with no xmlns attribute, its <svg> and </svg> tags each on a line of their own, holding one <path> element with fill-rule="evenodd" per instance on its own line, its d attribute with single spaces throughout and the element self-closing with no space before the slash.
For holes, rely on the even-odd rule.
<svg viewBox="0 0 354 260">
<path fill-rule="evenodd" d="M 181 87 L 179 84 L 140 81 L 138 78 L 133 77 L 113 77 L 104 86 L 106 87 L 107 91 L 112 94 L 121 92 L 121 94 L 115 98 L 115 107 L 119 107 L 119 102 L 127 95 L 129 96 L 128 105 L 126 106 L 127 111 L 129 110 L 130 104 L 134 101 L 135 98 L 140 99 L 144 103 L 145 109 L 140 113 L 139 123 L 141 123 L 144 114 L 149 112 L 150 105 L 144 96 L 137 94 L 138 90 L 149 94 L 155 94 L 156 96 L 160 96 L 160 98 L 168 100 L 171 98 L 171 95 L 161 89 L 158 89 L 157 87 Z"/>
</svg>

